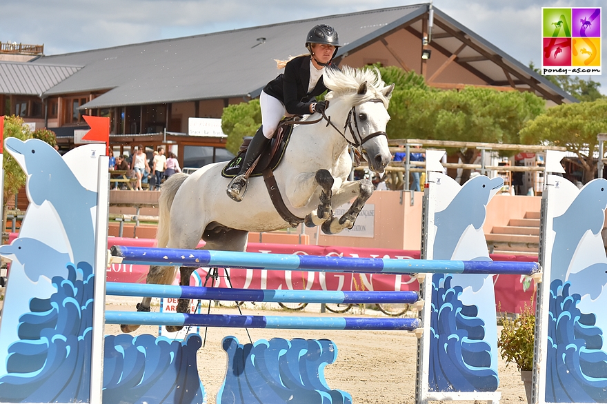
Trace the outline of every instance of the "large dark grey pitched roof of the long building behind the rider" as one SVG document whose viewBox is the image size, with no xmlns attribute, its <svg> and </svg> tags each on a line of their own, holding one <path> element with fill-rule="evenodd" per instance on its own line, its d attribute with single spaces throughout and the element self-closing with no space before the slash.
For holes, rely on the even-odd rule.
<svg viewBox="0 0 607 404">
<path fill-rule="evenodd" d="M 257 97 L 280 73 L 275 59 L 307 52 L 306 34 L 317 23 L 339 32 L 337 58 L 360 50 L 397 30 L 421 39 L 422 20 L 430 5 L 384 8 L 351 14 L 277 23 L 167 39 L 128 46 L 40 57 L 30 65 L 83 66 L 47 89 L 44 96 L 106 91 L 81 108 L 110 108 Z M 466 45 L 463 50 L 459 50 Z M 434 8 L 430 47 L 481 77 L 488 85 L 512 85 L 533 91 L 555 103 L 575 102 L 569 94 L 505 52 Z M 430 72 L 432 74 L 432 72 Z"/>
</svg>

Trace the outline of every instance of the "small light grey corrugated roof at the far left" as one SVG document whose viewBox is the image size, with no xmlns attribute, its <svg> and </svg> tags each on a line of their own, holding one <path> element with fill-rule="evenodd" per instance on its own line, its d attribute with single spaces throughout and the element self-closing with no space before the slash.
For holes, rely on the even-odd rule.
<svg viewBox="0 0 607 404">
<path fill-rule="evenodd" d="M 0 93 L 41 96 L 80 69 L 69 65 L 0 62 Z"/>
</svg>

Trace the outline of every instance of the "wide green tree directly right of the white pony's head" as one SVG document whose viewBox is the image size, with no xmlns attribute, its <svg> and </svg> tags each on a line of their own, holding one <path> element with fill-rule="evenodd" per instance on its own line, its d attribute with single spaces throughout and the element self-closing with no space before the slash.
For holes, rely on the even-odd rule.
<svg viewBox="0 0 607 404">
<path fill-rule="evenodd" d="M 390 139 L 436 139 L 520 143 L 519 130 L 544 112 L 545 101 L 530 92 L 466 87 L 464 90 L 407 88 L 390 100 Z M 535 142 L 534 142 L 535 143 Z M 475 148 L 448 150 L 474 163 Z M 461 181 L 470 175 L 464 170 Z"/>
</svg>

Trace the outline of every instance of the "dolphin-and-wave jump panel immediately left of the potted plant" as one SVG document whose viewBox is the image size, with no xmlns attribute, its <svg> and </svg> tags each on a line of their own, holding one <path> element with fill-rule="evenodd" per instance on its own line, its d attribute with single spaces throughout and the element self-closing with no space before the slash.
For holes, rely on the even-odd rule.
<svg viewBox="0 0 607 404">
<path fill-rule="evenodd" d="M 446 174 L 428 173 L 426 259 L 488 262 L 483 232 L 486 208 L 504 181 L 476 176 L 460 186 Z M 495 392 L 497 325 L 493 279 L 486 274 L 434 274 L 431 305 L 424 307 L 429 336 L 429 392 Z"/>
</svg>

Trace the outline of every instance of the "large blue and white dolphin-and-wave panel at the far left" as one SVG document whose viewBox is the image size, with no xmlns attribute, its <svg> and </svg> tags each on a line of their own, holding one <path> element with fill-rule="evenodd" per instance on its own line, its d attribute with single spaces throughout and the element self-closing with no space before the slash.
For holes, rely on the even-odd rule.
<svg viewBox="0 0 607 404">
<path fill-rule="evenodd" d="M 5 141 L 28 175 L 30 205 L 12 260 L 0 322 L 0 401 L 89 402 L 99 156 L 61 156 L 38 139 Z M 84 380 L 84 383 L 82 382 Z"/>
</svg>

